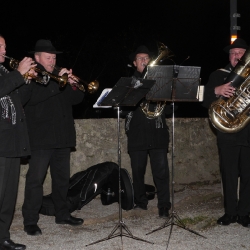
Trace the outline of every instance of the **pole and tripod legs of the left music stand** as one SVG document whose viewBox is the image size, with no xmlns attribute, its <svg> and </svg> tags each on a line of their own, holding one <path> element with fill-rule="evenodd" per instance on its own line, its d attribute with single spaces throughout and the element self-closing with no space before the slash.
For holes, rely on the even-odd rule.
<svg viewBox="0 0 250 250">
<path fill-rule="evenodd" d="M 118 181 L 119 181 L 119 221 L 118 221 L 116 226 L 113 228 L 113 230 L 111 231 L 111 233 L 107 237 L 105 237 L 105 238 L 103 238 L 101 240 L 92 242 L 92 243 L 90 243 L 88 245 L 85 245 L 86 247 L 90 246 L 90 245 L 94 245 L 96 243 L 100 243 L 100 242 L 105 241 L 105 240 L 110 240 L 110 239 L 118 237 L 118 236 L 121 237 L 121 241 L 122 241 L 122 236 L 125 236 L 125 237 L 132 238 L 134 240 L 140 240 L 140 241 L 143 241 L 143 242 L 154 244 L 153 242 L 150 242 L 150 241 L 147 241 L 147 240 L 144 240 L 144 239 L 133 236 L 133 234 L 130 232 L 130 230 L 128 229 L 128 227 L 125 225 L 125 223 L 122 220 L 122 207 L 121 207 L 121 192 L 122 192 L 122 190 L 121 190 L 121 175 L 120 175 L 121 174 L 120 107 L 116 107 L 116 108 L 117 108 L 118 166 L 119 166 L 119 169 L 118 169 L 119 170 L 119 175 L 118 175 Z M 115 234 L 115 232 L 118 229 L 119 229 L 119 233 Z M 127 233 L 123 233 L 123 229 Z"/>
</svg>

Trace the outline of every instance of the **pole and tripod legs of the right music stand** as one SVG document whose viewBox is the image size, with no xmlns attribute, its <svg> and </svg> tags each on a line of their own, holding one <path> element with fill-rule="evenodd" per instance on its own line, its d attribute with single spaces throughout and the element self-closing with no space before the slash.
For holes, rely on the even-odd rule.
<svg viewBox="0 0 250 250">
<path fill-rule="evenodd" d="M 158 228 L 156 228 L 156 229 L 154 229 L 151 232 L 146 234 L 146 235 L 148 235 L 148 234 L 151 234 L 151 233 L 156 232 L 158 230 L 161 230 L 165 227 L 170 226 L 170 232 L 169 232 L 169 236 L 168 236 L 166 249 L 168 249 L 168 245 L 169 245 L 169 241 L 170 241 L 170 237 L 171 237 L 174 225 L 178 226 L 180 228 L 183 228 L 191 233 L 194 233 L 194 234 L 199 235 L 199 236 L 206 239 L 205 236 L 195 232 L 194 230 L 187 228 L 185 226 L 185 224 L 181 221 L 180 217 L 178 216 L 178 214 L 174 208 L 174 184 L 175 184 L 175 182 L 174 182 L 174 102 L 172 102 L 172 108 L 173 108 L 173 116 L 172 116 L 172 209 L 171 209 L 171 213 L 170 213 L 169 217 L 166 219 L 165 223 L 162 226 L 160 226 L 160 227 L 158 227 Z"/>
</svg>

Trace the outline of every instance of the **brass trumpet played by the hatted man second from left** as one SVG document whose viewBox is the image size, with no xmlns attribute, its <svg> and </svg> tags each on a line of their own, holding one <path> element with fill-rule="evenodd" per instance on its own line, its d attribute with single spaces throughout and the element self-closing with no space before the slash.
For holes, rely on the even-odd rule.
<svg viewBox="0 0 250 250">
<path fill-rule="evenodd" d="M 51 65 L 55 70 L 60 71 L 62 68 L 58 67 L 56 65 Z M 67 78 L 66 82 L 63 83 L 63 85 L 61 87 L 63 87 L 67 82 L 68 82 L 68 75 L 67 74 L 63 74 L 62 77 Z M 86 81 L 82 80 L 81 78 L 79 78 L 78 76 L 75 75 L 71 75 L 70 78 L 74 81 L 74 86 L 76 86 L 79 90 L 85 92 L 85 86 L 87 88 L 87 92 L 90 94 L 95 93 L 98 88 L 99 88 L 99 82 L 97 80 L 94 80 L 90 83 L 87 83 Z"/>
</svg>

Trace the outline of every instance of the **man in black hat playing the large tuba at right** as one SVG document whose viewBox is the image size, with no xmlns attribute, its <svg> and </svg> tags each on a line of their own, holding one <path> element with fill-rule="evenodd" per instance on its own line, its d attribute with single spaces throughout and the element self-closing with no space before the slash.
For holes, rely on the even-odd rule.
<svg viewBox="0 0 250 250">
<path fill-rule="evenodd" d="M 229 53 L 229 64 L 214 71 L 205 86 L 204 103 L 209 108 L 220 96 L 231 97 L 235 88 L 231 82 L 226 82 L 228 74 L 237 65 L 239 59 L 248 48 L 243 39 L 236 39 L 224 48 Z M 219 225 L 229 225 L 238 222 L 244 227 L 250 227 L 248 216 L 250 208 L 250 125 L 237 133 L 217 132 L 220 170 L 223 184 L 225 214 L 217 220 Z M 239 200 L 237 197 L 238 177 L 240 177 Z"/>
</svg>

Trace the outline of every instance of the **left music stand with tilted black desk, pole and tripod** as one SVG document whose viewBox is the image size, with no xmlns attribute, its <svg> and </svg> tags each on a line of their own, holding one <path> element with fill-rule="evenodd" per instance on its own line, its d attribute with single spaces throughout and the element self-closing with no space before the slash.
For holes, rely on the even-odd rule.
<svg viewBox="0 0 250 250">
<path fill-rule="evenodd" d="M 109 94 L 101 101 L 100 106 L 112 106 L 117 109 L 117 136 L 118 136 L 118 166 L 119 166 L 119 221 L 117 225 L 113 228 L 111 233 L 98 241 L 95 241 L 89 245 L 93 245 L 105 240 L 110 240 L 117 236 L 121 237 L 126 236 L 135 240 L 144 241 L 150 244 L 154 244 L 153 242 L 138 238 L 133 236 L 128 227 L 125 225 L 122 220 L 122 208 L 121 208 L 121 144 L 120 144 L 120 106 L 136 106 L 136 104 L 146 96 L 148 91 L 154 85 L 154 80 L 147 79 L 136 79 L 129 77 L 122 77 L 117 82 L 117 84 L 113 87 L 113 89 L 109 92 Z M 123 233 L 123 229 L 126 231 Z M 117 230 L 119 232 L 115 233 Z M 123 242 L 122 242 L 123 244 Z"/>
</svg>

